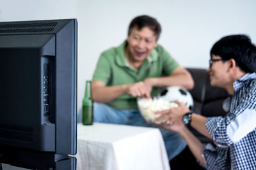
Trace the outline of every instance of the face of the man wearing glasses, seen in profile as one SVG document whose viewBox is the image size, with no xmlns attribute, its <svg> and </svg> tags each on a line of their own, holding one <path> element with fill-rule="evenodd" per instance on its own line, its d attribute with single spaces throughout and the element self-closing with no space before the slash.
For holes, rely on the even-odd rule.
<svg viewBox="0 0 256 170">
<path fill-rule="evenodd" d="M 211 60 L 211 66 L 207 69 L 210 76 L 211 85 L 221 88 L 227 87 L 230 83 L 228 63 L 223 62 L 219 55 L 212 55 Z"/>
</svg>

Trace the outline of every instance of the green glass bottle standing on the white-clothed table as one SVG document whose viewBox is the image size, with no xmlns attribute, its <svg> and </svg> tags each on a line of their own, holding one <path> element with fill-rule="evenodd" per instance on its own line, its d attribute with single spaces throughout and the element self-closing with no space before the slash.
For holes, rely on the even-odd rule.
<svg viewBox="0 0 256 170">
<path fill-rule="evenodd" d="M 86 88 L 83 99 L 83 124 L 93 124 L 93 99 L 92 99 L 92 81 L 86 81 Z"/>
</svg>

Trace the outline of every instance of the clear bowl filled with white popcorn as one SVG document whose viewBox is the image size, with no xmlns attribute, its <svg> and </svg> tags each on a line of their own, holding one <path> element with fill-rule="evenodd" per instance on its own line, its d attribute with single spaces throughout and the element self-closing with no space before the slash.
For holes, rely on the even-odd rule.
<svg viewBox="0 0 256 170">
<path fill-rule="evenodd" d="M 170 103 L 164 99 L 146 99 L 138 98 L 138 108 L 141 115 L 148 123 L 162 124 L 166 120 L 154 121 L 160 114 L 155 114 L 156 111 L 168 110 L 170 108 L 178 107 L 177 103 Z"/>
</svg>

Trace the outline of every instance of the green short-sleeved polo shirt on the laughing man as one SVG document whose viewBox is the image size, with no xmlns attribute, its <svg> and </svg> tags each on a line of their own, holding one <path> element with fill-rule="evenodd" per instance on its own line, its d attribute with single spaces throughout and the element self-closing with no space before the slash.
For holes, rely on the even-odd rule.
<svg viewBox="0 0 256 170">
<path fill-rule="evenodd" d="M 144 60 L 140 69 L 129 66 L 125 60 L 125 45 L 110 48 L 100 55 L 97 67 L 93 74 L 93 80 L 103 81 L 106 86 L 115 86 L 128 83 L 136 83 L 146 78 L 169 75 L 179 64 L 170 56 L 161 45 L 152 50 L 150 56 Z M 157 96 L 159 88 L 154 87 L 151 96 Z M 116 109 L 138 109 L 136 97 L 124 94 L 107 103 Z"/>
</svg>

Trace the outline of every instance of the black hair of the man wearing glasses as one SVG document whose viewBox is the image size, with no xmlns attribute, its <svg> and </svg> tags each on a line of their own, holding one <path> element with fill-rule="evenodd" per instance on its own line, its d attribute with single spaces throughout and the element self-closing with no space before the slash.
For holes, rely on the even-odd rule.
<svg viewBox="0 0 256 170">
<path fill-rule="evenodd" d="M 245 73 L 256 71 L 256 47 L 249 36 L 238 34 L 225 36 L 211 49 L 211 55 L 219 55 L 221 60 L 234 59 L 236 66 Z"/>
</svg>

